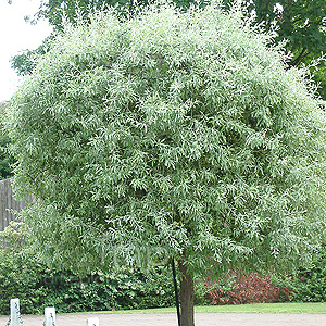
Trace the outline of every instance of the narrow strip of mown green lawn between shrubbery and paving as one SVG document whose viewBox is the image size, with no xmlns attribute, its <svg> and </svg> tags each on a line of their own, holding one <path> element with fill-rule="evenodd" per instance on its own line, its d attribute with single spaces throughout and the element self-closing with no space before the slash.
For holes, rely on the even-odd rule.
<svg viewBox="0 0 326 326">
<path fill-rule="evenodd" d="M 253 303 L 237 305 L 208 305 L 196 306 L 199 313 L 326 313 L 326 302 L 321 303 Z M 175 313 L 175 308 L 147 309 L 147 310 L 123 310 L 95 313 L 108 314 L 151 314 L 151 313 Z"/>
</svg>

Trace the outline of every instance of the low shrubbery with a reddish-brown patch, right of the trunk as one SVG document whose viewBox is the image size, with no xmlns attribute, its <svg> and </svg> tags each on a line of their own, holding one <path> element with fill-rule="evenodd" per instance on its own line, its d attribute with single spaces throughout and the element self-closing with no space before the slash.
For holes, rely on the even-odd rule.
<svg viewBox="0 0 326 326">
<path fill-rule="evenodd" d="M 210 304 L 253 302 L 325 302 L 326 244 L 310 267 L 300 267 L 296 275 L 260 276 L 231 272 L 218 281 L 206 283 Z"/>
</svg>

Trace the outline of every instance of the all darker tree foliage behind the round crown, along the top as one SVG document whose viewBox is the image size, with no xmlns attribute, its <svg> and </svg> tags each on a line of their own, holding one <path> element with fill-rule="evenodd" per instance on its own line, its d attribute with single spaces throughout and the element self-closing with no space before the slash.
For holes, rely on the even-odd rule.
<svg viewBox="0 0 326 326">
<path fill-rule="evenodd" d="M 178 7 L 189 8 L 193 2 L 190 0 L 175 0 Z M 223 0 L 225 8 L 229 8 L 236 1 Z M 266 30 L 277 29 L 276 42 L 287 40 L 287 51 L 293 55 L 287 61 L 291 65 L 310 64 L 326 51 L 326 2 L 324 0 L 243 0 L 243 10 L 249 16 L 254 14 L 253 23 L 262 23 Z M 137 1 L 137 5 L 148 4 L 147 0 Z M 203 3 L 204 4 L 204 3 Z M 76 23 L 78 14 L 85 18 L 95 9 L 103 9 L 105 5 L 116 5 L 124 14 L 133 14 L 135 2 L 127 0 L 50 0 L 42 1 L 39 11 L 33 21 L 47 18 L 54 29 L 61 29 L 63 15 L 65 20 Z M 18 74 L 30 74 L 35 66 L 35 58 L 48 50 L 47 41 L 38 49 L 26 50 L 13 58 L 13 67 Z M 315 80 L 321 82 L 319 93 L 326 99 L 325 68 L 319 73 L 315 68 L 311 71 L 316 75 Z"/>
</svg>

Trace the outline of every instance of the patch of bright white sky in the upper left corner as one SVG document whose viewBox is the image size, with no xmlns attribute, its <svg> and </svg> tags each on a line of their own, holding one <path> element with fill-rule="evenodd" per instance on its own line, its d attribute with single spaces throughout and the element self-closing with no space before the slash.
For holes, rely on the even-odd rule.
<svg viewBox="0 0 326 326">
<path fill-rule="evenodd" d="M 0 0 L 0 102 L 9 100 L 22 78 L 11 68 L 10 59 L 22 50 L 34 50 L 50 35 L 52 28 L 47 21 L 36 25 L 26 23 L 33 16 L 40 0 Z"/>
</svg>

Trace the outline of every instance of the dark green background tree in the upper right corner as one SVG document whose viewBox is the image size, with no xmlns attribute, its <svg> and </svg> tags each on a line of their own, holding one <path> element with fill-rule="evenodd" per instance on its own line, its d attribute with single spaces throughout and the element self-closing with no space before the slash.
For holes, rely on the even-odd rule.
<svg viewBox="0 0 326 326">
<path fill-rule="evenodd" d="M 223 0 L 226 8 L 234 0 Z M 326 52 L 326 2 L 324 0 L 243 0 L 243 8 L 254 23 L 262 23 L 266 30 L 277 29 L 278 43 L 287 40 L 286 50 L 292 53 L 289 66 L 310 65 Z M 326 100 L 325 62 L 311 67 L 318 92 Z"/>
</svg>

